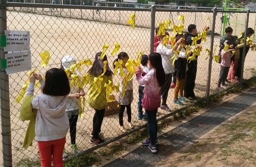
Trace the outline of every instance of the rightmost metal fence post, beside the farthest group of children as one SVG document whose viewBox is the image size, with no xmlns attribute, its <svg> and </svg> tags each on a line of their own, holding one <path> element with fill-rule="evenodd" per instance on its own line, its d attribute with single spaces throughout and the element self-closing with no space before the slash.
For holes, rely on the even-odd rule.
<svg viewBox="0 0 256 167">
<path fill-rule="evenodd" d="M 248 28 L 248 23 L 249 23 L 249 14 L 250 14 L 250 9 L 246 12 L 247 18 L 246 18 L 246 23 L 245 23 L 245 30 L 244 30 L 244 39 L 243 39 L 243 57 L 242 57 L 242 64 L 241 64 L 241 76 L 240 76 L 240 84 L 243 84 L 243 68 L 244 68 L 244 61 L 245 61 L 245 55 L 246 55 L 246 37 L 247 37 L 247 28 Z"/>
</svg>

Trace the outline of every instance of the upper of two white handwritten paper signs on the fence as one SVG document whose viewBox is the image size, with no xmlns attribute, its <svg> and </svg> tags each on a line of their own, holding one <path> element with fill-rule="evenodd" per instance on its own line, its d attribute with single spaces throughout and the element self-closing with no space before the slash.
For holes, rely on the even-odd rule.
<svg viewBox="0 0 256 167">
<path fill-rule="evenodd" d="M 27 31 L 5 30 L 6 47 L 4 51 L 29 51 L 30 35 Z"/>
</svg>

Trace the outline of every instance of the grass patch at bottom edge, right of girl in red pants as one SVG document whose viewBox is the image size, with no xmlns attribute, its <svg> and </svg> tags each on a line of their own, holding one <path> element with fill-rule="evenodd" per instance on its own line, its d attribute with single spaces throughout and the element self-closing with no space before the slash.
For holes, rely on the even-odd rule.
<svg viewBox="0 0 256 167">
<path fill-rule="evenodd" d="M 92 166 L 94 163 L 100 160 L 96 156 L 97 154 L 92 152 L 85 154 L 81 157 L 74 157 L 71 161 L 64 164 L 64 167 L 85 167 Z"/>
</svg>

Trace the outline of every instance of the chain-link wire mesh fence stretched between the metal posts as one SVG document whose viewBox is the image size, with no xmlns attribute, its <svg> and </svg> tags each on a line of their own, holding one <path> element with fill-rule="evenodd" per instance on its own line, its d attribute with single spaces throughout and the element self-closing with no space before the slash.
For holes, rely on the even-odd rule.
<svg viewBox="0 0 256 167">
<path fill-rule="evenodd" d="M 113 5 L 113 4 L 112 4 Z M 154 12 L 154 13 L 152 13 Z M 7 3 L 7 30 L 29 31 L 30 32 L 30 50 L 32 55 L 32 69 L 36 69 L 37 73 L 45 75 L 50 68 L 60 68 L 61 58 L 63 56 L 72 55 L 76 62 L 83 59 L 90 59 L 94 62 L 94 57 L 97 52 L 102 51 L 102 46 L 107 44 L 108 64 L 114 71 L 113 63 L 117 58 L 118 52 L 128 53 L 129 58 L 136 59 L 137 52 L 149 54 L 154 45 L 152 36 L 154 36 L 155 28 L 158 23 L 171 20 L 170 27 L 166 29 L 170 35 L 175 35 L 173 25 L 183 25 L 182 32 L 185 33 L 190 24 L 195 24 L 197 31 L 201 32 L 205 26 L 210 27 L 207 32 L 206 41 L 202 41 L 202 51 L 197 58 L 197 72 L 195 79 L 195 96 L 196 100 L 177 105 L 173 103 L 174 89 L 168 89 L 167 105 L 172 112 L 159 109 L 159 120 L 171 116 L 172 113 L 185 106 L 191 105 L 198 100 L 208 98 L 219 92 L 216 90 L 217 82 L 220 74 L 220 64 L 216 63 L 214 56 L 218 54 L 219 42 L 222 38 L 222 15 L 223 11 L 209 10 L 170 10 L 170 9 L 150 9 L 142 8 L 121 8 L 113 7 L 96 7 L 96 6 L 64 6 L 64 5 L 47 5 L 47 4 L 16 4 Z M 127 23 L 130 20 L 130 14 L 135 14 L 135 28 Z M 255 13 L 250 13 L 247 18 L 246 12 L 236 12 L 236 20 L 230 18 L 230 26 L 232 26 L 233 35 L 240 36 L 240 33 L 245 30 L 244 20 L 249 19 L 249 27 L 255 26 Z M 152 14 L 155 16 L 152 20 Z M 181 15 L 184 16 L 184 23 Z M 233 22 L 239 24 L 232 24 Z M 154 24 L 155 23 L 155 24 Z M 213 24 L 215 23 L 215 24 Z M 153 25 L 152 25 L 153 24 Z M 214 30 L 215 31 L 212 31 Z M 5 29 L 3 29 L 5 30 Z M 3 32 L 1 30 L 1 32 Z M 153 34 L 152 34 L 153 33 Z M 115 44 L 120 45 L 120 50 L 111 56 Z M 209 49 L 210 52 L 206 51 Z M 47 66 L 42 67 L 39 54 L 43 51 L 50 52 L 50 60 Z M 213 58 L 209 57 L 209 54 Z M 243 78 L 249 79 L 256 75 L 254 51 L 249 50 L 245 62 Z M 4 55 L 1 55 L 4 58 Z M 171 61 L 171 60 L 170 60 Z M 82 66 L 81 71 L 77 73 L 84 75 L 88 72 L 91 66 Z M 9 95 L 10 102 L 1 102 L 6 105 L 10 103 L 10 119 L 5 121 L 11 122 L 11 145 L 12 145 L 12 161 L 13 166 L 27 166 L 26 163 L 31 161 L 40 161 L 37 142 L 33 142 L 32 147 L 28 149 L 22 148 L 23 139 L 26 133 L 28 122 L 22 122 L 19 119 L 19 109 L 22 101 L 16 103 L 15 100 L 20 93 L 21 87 L 27 81 L 27 71 L 14 73 L 9 75 Z M 122 77 L 118 74 L 113 76 L 113 84 L 117 85 L 122 82 Z M 233 86 L 236 83 L 228 83 Z M 84 92 L 88 92 L 89 85 L 83 87 Z M 35 92 L 40 94 L 40 89 L 35 88 Z M 119 93 L 113 92 L 117 100 Z M 3 95 L 1 95 L 3 96 Z M 87 95 L 85 96 L 87 99 Z M 137 103 L 139 100 L 138 83 L 133 79 L 133 102 L 131 103 L 132 124 L 135 129 L 130 129 L 128 125 L 128 115 L 124 112 L 124 127 L 127 132 L 124 133 L 119 128 L 118 109 L 117 113 L 105 116 L 100 136 L 107 142 L 113 142 L 123 136 L 126 136 L 136 130 L 145 127 L 146 121 L 137 119 L 138 109 Z M 116 105 L 114 108 L 117 107 Z M 107 108 L 109 109 L 109 108 Z M 76 144 L 82 151 L 81 154 L 88 153 L 103 145 L 95 146 L 89 143 L 90 135 L 93 128 L 94 109 L 85 103 L 83 116 L 78 119 Z M 2 117 L 3 121 L 3 117 Z M 2 126 L 4 126 L 2 124 Z M 5 135 L 2 136 L 5 141 Z M 70 148 L 70 135 L 67 134 L 65 149 L 67 153 L 71 153 L 70 157 L 74 156 L 73 149 Z M 3 147 L 7 147 L 7 143 L 3 142 Z M 8 156 L 3 149 L 4 161 L 5 156 Z M 4 162 L 5 163 L 5 162 Z"/>
</svg>

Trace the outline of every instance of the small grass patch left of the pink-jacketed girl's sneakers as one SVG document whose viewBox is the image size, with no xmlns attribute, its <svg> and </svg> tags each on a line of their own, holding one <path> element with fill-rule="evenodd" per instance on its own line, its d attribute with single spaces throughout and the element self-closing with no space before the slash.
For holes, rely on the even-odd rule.
<svg viewBox="0 0 256 167">
<path fill-rule="evenodd" d="M 100 148 L 97 150 L 97 153 L 102 156 L 114 156 L 114 155 L 120 155 L 123 150 L 124 150 L 123 146 L 121 144 L 118 144 L 118 145 L 106 146 L 104 148 Z"/>
</svg>

